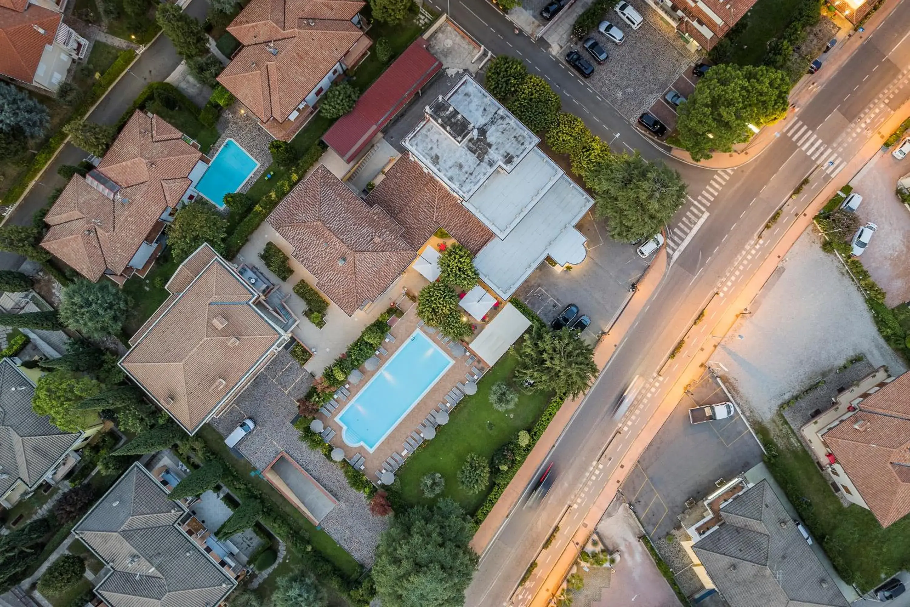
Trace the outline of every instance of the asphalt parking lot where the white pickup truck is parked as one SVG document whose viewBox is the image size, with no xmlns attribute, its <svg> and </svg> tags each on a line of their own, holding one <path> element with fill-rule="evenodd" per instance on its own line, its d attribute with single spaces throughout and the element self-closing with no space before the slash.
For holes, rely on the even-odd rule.
<svg viewBox="0 0 910 607">
<path fill-rule="evenodd" d="M 689 409 L 728 400 L 707 371 L 686 390 L 657 436 L 622 483 L 622 494 L 652 538 L 675 527 L 687 500 L 700 500 L 762 461 L 762 449 L 737 414 L 693 424 Z"/>
</svg>

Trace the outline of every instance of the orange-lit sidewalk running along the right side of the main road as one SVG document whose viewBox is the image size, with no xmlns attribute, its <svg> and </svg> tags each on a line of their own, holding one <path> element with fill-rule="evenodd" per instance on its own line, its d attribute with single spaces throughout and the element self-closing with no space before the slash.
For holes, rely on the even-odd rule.
<svg viewBox="0 0 910 607">
<path fill-rule="evenodd" d="M 901 123 L 900 116 L 905 116 L 906 111 L 910 111 L 910 102 L 907 102 L 905 106 L 895 112 L 879 130 L 881 132 L 890 133 Z M 575 532 L 575 536 L 571 543 L 562 551 L 557 561 L 553 564 L 551 572 L 547 576 L 545 582 L 541 585 L 541 590 L 531 602 L 531 607 L 544 607 L 545 605 L 550 604 L 552 594 L 558 592 L 563 580 L 565 580 L 566 575 L 571 569 L 572 564 L 578 557 L 576 542 L 581 546 L 587 542 L 588 536 L 591 535 L 591 529 L 593 529 L 596 522 L 601 519 L 607 507 L 610 505 L 613 497 L 616 495 L 616 489 L 625 479 L 628 470 L 632 470 L 635 462 L 641 457 L 642 452 L 647 448 L 648 444 L 657 434 L 657 431 L 661 429 L 663 423 L 670 417 L 672 410 L 676 408 L 676 404 L 682 396 L 685 386 L 702 373 L 704 365 L 713 356 L 714 349 L 717 344 L 720 343 L 720 339 L 713 336 L 723 336 L 733 328 L 733 325 L 739 319 L 743 309 L 748 308 L 749 304 L 762 290 L 764 283 L 771 278 L 774 271 L 777 269 L 780 260 L 784 258 L 790 248 L 793 247 L 794 243 L 800 238 L 805 229 L 812 225 L 815 214 L 824 207 L 824 204 L 834 196 L 834 193 L 836 193 L 844 183 L 847 183 L 853 178 L 856 173 L 875 157 L 875 154 L 880 147 L 881 142 L 879 138 L 872 137 L 850 162 L 847 163 L 846 167 L 844 167 L 844 177 L 842 179 L 830 181 L 808 202 L 801 202 L 802 198 L 788 201 L 788 206 L 800 205 L 803 212 L 799 214 L 798 218 L 796 218 L 789 228 L 784 230 L 784 233 L 776 243 L 765 243 L 765 245 L 770 248 L 768 255 L 764 258 L 761 266 L 756 268 L 753 276 L 748 279 L 741 294 L 732 298 L 730 301 L 727 300 L 728 298 L 716 296 L 712 298 L 705 308 L 705 321 L 689 329 L 684 338 L 685 347 L 682 349 L 682 352 L 680 352 L 672 361 L 668 361 L 663 369 L 661 369 L 661 374 L 663 375 L 667 371 L 667 367 L 670 366 L 670 362 L 673 362 L 670 372 L 675 371 L 677 367 L 682 364 L 678 379 L 676 379 L 672 387 L 668 390 L 667 396 L 662 400 L 657 410 L 654 411 L 648 425 L 645 426 L 642 433 L 632 442 L 629 450 L 622 456 L 620 465 L 613 470 L 610 479 L 604 485 L 603 491 L 594 502 L 591 510 L 588 511 L 584 520 L 581 521 L 581 525 Z M 791 211 L 792 210 L 793 209 L 791 209 Z M 792 217 L 793 213 L 790 213 L 790 216 Z M 759 238 L 759 242 L 761 241 L 762 238 Z M 544 552 L 545 551 L 541 552 L 541 555 Z M 539 561 L 540 558 L 541 557 L 539 556 Z"/>
</svg>

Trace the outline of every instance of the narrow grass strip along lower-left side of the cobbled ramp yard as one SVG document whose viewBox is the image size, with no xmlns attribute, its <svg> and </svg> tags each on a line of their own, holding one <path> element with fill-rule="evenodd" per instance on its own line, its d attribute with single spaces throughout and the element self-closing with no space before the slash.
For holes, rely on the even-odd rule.
<svg viewBox="0 0 910 607">
<path fill-rule="evenodd" d="M 217 430 L 211 426 L 205 425 L 199 430 L 197 436 L 202 440 L 205 440 L 208 449 L 215 451 L 222 460 L 233 466 L 240 475 L 249 478 L 256 489 L 262 491 L 263 497 L 272 501 L 279 511 L 283 512 L 288 518 L 296 519 L 298 524 L 307 530 L 309 543 L 314 550 L 321 552 L 349 578 L 353 578 L 359 574 L 361 571 L 360 563 L 355 561 L 354 557 L 339 546 L 338 542 L 333 540 L 328 533 L 316 529 L 316 527 L 313 526 L 313 523 L 298 511 L 291 502 L 285 500 L 284 497 L 268 483 L 268 481 L 256 476 L 251 476 L 250 473 L 255 471 L 254 468 L 249 465 L 247 460 L 238 460 L 231 454 L 225 444 L 224 438 L 217 433 Z M 274 573 L 272 575 L 274 575 Z"/>
</svg>

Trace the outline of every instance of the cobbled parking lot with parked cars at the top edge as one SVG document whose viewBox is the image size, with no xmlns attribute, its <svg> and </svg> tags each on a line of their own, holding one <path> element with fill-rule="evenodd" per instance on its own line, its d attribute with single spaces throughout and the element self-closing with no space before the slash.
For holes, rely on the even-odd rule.
<svg viewBox="0 0 910 607">
<path fill-rule="evenodd" d="M 594 74 L 587 83 L 622 116 L 634 121 L 653 106 L 684 71 L 691 69 L 695 56 L 682 44 L 675 30 L 644 0 L 630 0 L 630 4 L 644 17 L 644 23 L 637 30 L 623 22 L 612 8 L 605 16 L 625 35 L 622 45 L 614 44 L 596 29 L 589 34 L 610 57 L 603 65 L 594 66 Z M 572 48 L 589 57 L 580 44 L 571 41 L 562 49 L 560 58 L 564 59 Z"/>
</svg>

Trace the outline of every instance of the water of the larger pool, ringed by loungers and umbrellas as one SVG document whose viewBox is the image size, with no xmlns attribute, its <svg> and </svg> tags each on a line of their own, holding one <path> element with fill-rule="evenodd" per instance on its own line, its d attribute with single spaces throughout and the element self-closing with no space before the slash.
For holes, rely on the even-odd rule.
<svg viewBox="0 0 910 607">
<path fill-rule="evenodd" d="M 373 452 L 454 363 L 420 329 L 407 339 L 341 411 L 349 446 Z"/>
</svg>

